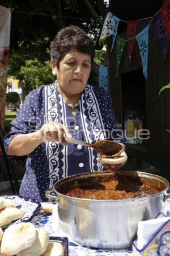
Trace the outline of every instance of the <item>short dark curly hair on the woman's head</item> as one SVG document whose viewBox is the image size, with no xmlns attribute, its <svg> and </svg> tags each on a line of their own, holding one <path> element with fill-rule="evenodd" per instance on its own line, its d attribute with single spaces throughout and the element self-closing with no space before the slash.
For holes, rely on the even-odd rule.
<svg viewBox="0 0 170 256">
<path fill-rule="evenodd" d="M 95 56 L 95 45 L 93 40 L 77 26 L 68 26 L 58 31 L 50 43 L 50 57 L 58 66 L 66 52 L 71 48 L 76 51 L 91 55 L 91 63 Z"/>
</svg>

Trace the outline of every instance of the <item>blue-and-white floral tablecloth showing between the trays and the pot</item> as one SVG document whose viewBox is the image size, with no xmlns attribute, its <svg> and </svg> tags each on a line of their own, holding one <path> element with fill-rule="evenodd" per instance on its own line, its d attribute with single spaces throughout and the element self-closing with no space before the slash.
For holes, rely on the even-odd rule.
<svg viewBox="0 0 170 256">
<path fill-rule="evenodd" d="M 170 200 L 167 201 L 168 216 L 170 216 Z M 43 227 L 49 233 L 49 236 L 58 236 L 54 228 L 53 216 L 50 213 L 37 211 L 31 222 L 37 227 Z M 131 247 L 128 249 L 94 249 L 87 246 L 79 246 L 69 242 L 69 256 L 128 256 L 133 255 Z"/>
</svg>

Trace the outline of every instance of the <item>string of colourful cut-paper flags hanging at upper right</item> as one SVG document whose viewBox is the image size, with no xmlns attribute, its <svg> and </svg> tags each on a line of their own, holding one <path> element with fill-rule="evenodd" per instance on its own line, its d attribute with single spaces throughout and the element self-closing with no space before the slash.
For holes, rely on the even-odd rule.
<svg viewBox="0 0 170 256">
<path fill-rule="evenodd" d="M 133 59 L 135 40 L 138 43 L 139 51 L 141 55 L 143 75 L 147 79 L 147 63 L 148 63 L 148 43 L 149 43 L 149 29 L 151 22 L 155 23 L 156 34 L 160 42 L 160 47 L 162 49 L 164 60 L 167 57 L 167 52 L 169 48 L 170 40 L 170 0 L 167 0 L 162 5 L 161 9 L 151 17 L 145 19 L 150 19 L 147 26 L 138 34 L 136 34 L 138 22 L 143 19 L 125 21 L 119 19 L 117 16 L 109 12 L 104 20 L 103 28 L 100 35 L 100 43 L 106 44 L 107 38 L 112 36 L 111 52 L 113 51 L 115 41 L 117 39 L 116 47 L 116 77 L 119 75 L 120 63 L 122 58 L 122 53 L 124 52 L 124 47 L 126 42 L 128 43 L 128 53 L 129 61 Z M 127 38 L 124 39 L 117 34 L 118 25 L 122 22 L 127 24 Z M 106 78 L 108 76 L 108 71 L 106 67 L 100 67 L 100 86 L 105 90 L 108 89 L 108 83 L 106 83 Z"/>
</svg>

